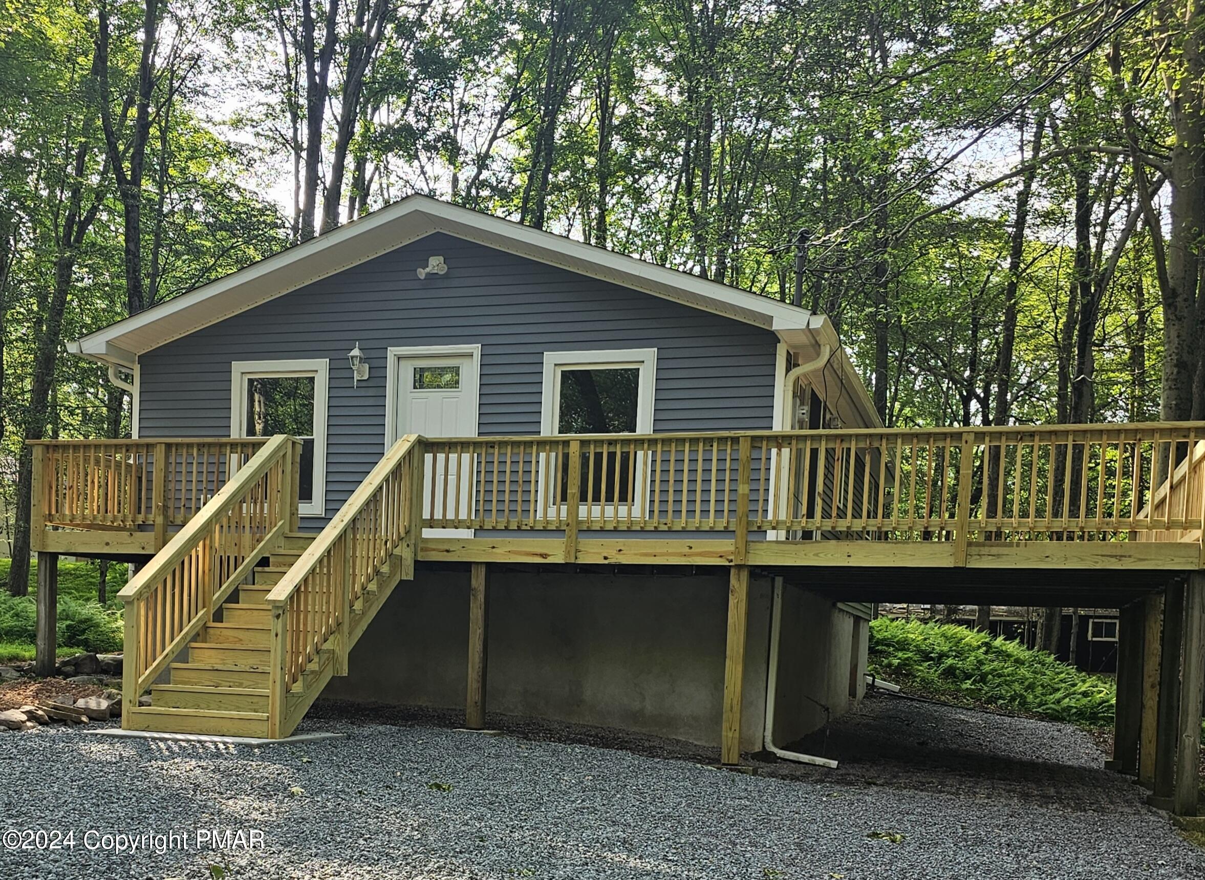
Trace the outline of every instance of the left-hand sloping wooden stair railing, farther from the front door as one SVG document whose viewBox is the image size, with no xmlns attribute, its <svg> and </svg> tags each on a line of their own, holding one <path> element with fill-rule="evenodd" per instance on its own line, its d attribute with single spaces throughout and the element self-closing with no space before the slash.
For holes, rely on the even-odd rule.
<svg viewBox="0 0 1205 880">
<path fill-rule="evenodd" d="M 301 442 L 272 436 L 118 592 L 125 615 L 123 724 L 139 697 L 295 527 Z"/>
</svg>

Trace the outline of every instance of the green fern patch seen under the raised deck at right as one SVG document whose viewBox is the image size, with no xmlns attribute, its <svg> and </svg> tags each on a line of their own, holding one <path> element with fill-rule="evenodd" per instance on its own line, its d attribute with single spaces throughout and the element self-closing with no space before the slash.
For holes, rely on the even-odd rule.
<svg viewBox="0 0 1205 880">
<path fill-rule="evenodd" d="M 870 624 L 870 669 L 936 698 L 1089 727 L 1113 720 L 1112 680 L 953 623 L 880 617 Z"/>
</svg>

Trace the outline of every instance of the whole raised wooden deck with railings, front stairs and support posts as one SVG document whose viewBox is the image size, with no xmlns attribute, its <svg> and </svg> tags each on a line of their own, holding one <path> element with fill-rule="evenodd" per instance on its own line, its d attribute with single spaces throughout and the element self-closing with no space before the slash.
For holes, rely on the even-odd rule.
<svg viewBox="0 0 1205 880">
<path fill-rule="evenodd" d="M 1012 580 L 1034 604 L 1072 580 L 1101 598 L 1115 591 L 1129 640 L 1119 765 L 1139 752 L 1141 703 L 1147 763 L 1158 739 L 1159 803 L 1195 810 L 1205 423 L 408 435 L 318 534 L 298 530 L 300 448 L 283 435 L 35 444 L 40 662 L 54 657 L 55 555 L 147 559 L 119 594 L 123 726 L 287 737 L 331 676 L 347 674 L 352 646 L 416 564 L 452 562 L 471 567 L 466 722 L 481 727 L 490 564 L 724 565 L 721 753 L 731 764 L 751 570 L 813 589 L 924 585 L 969 604 L 1024 571 Z M 1151 596 L 1135 603 L 1119 588 Z M 1174 614 L 1156 614 L 1156 589 Z M 1139 606 L 1151 611 L 1135 624 Z M 1145 629 L 1153 635 L 1139 650 Z M 1164 718 L 1164 704 L 1194 709 Z"/>
</svg>

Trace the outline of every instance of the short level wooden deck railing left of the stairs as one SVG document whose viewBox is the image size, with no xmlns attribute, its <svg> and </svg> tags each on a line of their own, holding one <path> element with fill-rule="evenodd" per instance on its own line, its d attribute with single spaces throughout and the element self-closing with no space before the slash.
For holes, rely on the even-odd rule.
<svg viewBox="0 0 1205 880">
<path fill-rule="evenodd" d="M 37 526 L 153 529 L 183 526 L 266 439 L 34 441 Z"/>
</svg>

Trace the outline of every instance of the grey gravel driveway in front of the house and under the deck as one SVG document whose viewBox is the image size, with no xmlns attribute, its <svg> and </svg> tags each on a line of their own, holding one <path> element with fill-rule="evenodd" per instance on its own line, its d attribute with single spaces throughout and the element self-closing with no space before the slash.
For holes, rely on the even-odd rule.
<svg viewBox="0 0 1205 880">
<path fill-rule="evenodd" d="M 72 850 L 0 850 L 0 878 L 1205 878 L 1205 853 L 1059 724 L 875 698 L 801 744 L 836 772 L 742 775 L 613 732 L 335 714 L 306 729 L 346 739 L 261 750 L 0 734 L 4 827 L 75 831 Z M 199 852 L 199 828 L 264 846 Z M 95 851 L 89 829 L 184 832 L 189 849 Z"/>
</svg>

